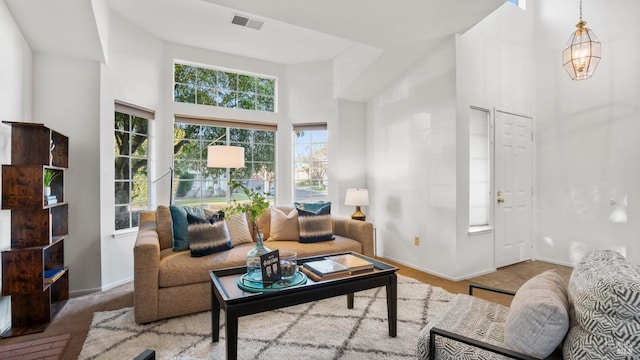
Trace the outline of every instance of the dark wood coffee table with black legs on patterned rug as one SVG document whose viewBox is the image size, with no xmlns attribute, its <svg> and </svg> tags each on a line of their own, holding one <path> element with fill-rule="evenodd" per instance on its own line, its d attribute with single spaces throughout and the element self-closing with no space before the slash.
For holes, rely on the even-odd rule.
<svg viewBox="0 0 640 360">
<path fill-rule="evenodd" d="M 212 341 L 220 338 L 220 309 L 225 311 L 227 359 L 238 356 L 238 318 L 287 306 L 308 303 L 339 295 L 347 295 L 347 307 L 353 308 L 354 293 L 384 286 L 387 290 L 387 317 L 389 336 L 397 332 L 397 276 L 398 268 L 361 254 L 351 253 L 373 263 L 370 272 L 345 277 L 313 281 L 286 287 L 277 291 L 247 292 L 238 287 L 238 279 L 246 273 L 246 267 L 209 271 L 211 276 L 211 333 Z M 329 254 L 336 255 L 336 254 Z M 298 259 L 298 264 L 318 260 L 325 256 Z M 345 334 L 348 335 L 348 334 Z"/>
</svg>

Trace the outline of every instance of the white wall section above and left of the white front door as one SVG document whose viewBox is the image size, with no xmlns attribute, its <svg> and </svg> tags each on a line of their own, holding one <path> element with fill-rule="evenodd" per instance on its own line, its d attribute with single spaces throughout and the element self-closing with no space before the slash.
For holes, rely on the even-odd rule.
<svg viewBox="0 0 640 360">
<path fill-rule="evenodd" d="M 495 269 L 493 231 L 468 235 L 469 108 L 534 115 L 533 5 L 505 3 L 457 37 L 457 278 Z"/>
</svg>

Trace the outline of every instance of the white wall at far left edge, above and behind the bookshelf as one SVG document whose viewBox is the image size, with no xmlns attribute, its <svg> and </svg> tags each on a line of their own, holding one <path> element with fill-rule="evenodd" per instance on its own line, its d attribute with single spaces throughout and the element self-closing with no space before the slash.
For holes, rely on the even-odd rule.
<svg viewBox="0 0 640 360">
<path fill-rule="evenodd" d="M 31 122 L 31 64 L 29 44 L 0 1 L 0 120 Z M 11 163 L 11 128 L 0 125 L 0 164 Z M 0 180 L 2 173 L 0 173 Z M 0 193 L 1 193 L 0 189 Z M 11 247 L 11 212 L 0 210 L 0 249 Z M 0 277 L 2 269 L 0 269 Z M 1 288 L 2 284 L 0 284 Z M 0 332 L 11 327 L 9 296 L 0 297 Z"/>
</svg>

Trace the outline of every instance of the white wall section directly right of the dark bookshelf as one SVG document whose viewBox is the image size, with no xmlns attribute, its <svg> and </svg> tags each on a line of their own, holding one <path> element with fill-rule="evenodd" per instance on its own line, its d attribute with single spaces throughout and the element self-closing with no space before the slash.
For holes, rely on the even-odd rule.
<svg viewBox="0 0 640 360">
<path fill-rule="evenodd" d="M 33 118 L 69 137 L 64 242 L 70 295 L 100 289 L 100 65 L 33 55 Z"/>
</svg>

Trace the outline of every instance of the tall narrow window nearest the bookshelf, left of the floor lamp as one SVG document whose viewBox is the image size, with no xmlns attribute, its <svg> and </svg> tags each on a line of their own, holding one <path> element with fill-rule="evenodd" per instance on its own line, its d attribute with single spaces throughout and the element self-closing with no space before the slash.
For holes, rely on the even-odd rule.
<svg viewBox="0 0 640 360">
<path fill-rule="evenodd" d="M 149 207 L 149 120 L 151 110 L 116 102 L 114 116 L 115 229 L 138 226 Z"/>
</svg>

